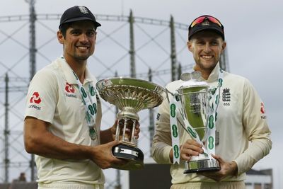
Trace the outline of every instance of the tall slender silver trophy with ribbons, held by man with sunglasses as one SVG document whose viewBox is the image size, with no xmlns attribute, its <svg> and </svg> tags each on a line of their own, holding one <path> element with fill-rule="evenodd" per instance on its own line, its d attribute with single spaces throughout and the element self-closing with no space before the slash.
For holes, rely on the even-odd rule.
<svg viewBox="0 0 283 189">
<path fill-rule="evenodd" d="M 205 81 L 199 81 L 200 73 L 197 71 L 186 73 L 181 76 L 184 81 L 173 93 L 173 98 L 178 107 L 185 126 L 183 129 L 190 134 L 192 139 L 202 143 L 206 141 L 206 146 L 202 147 L 204 153 L 199 156 L 191 156 L 190 161 L 185 162 L 184 173 L 197 173 L 202 171 L 219 171 L 219 162 L 212 157 L 209 149 L 214 149 L 215 124 L 214 110 L 209 105 L 211 97 L 209 86 Z M 214 91 L 215 92 L 215 91 Z M 212 127 L 213 126 L 213 127 Z"/>
</svg>

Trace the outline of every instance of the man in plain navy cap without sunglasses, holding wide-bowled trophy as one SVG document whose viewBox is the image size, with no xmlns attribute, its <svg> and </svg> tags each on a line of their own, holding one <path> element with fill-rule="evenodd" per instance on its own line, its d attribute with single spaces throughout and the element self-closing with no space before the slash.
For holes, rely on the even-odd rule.
<svg viewBox="0 0 283 189">
<path fill-rule="evenodd" d="M 96 78 L 86 66 L 99 26 L 86 6 L 67 9 L 57 32 L 63 55 L 30 82 L 24 142 L 26 151 L 35 154 L 40 189 L 104 188 L 101 168 L 126 163 L 112 155 L 112 147 L 119 144 L 115 124 L 100 131 Z"/>
</svg>

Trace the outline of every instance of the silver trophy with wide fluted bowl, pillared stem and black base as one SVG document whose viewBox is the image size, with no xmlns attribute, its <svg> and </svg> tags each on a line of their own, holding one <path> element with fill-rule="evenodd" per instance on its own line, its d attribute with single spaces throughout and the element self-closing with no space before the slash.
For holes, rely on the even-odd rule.
<svg viewBox="0 0 283 189">
<path fill-rule="evenodd" d="M 125 166 L 115 168 L 123 170 L 144 167 L 144 153 L 137 148 L 134 130 L 139 121 L 140 110 L 154 108 L 166 98 L 166 91 L 152 82 L 126 77 L 103 79 L 96 84 L 98 92 L 105 101 L 116 105 L 121 111 L 117 113 L 115 139 L 121 144 L 113 147 L 115 157 L 129 161 Z"/>
</svg>

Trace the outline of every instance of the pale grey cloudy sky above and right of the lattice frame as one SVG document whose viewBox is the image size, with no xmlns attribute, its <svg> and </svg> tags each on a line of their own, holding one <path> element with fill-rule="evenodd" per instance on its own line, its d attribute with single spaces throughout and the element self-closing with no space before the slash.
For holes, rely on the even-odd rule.
<svg viewBox="0 0 283 189">
<path fill-rule="evenodd" d="M 229 70 L 248 78 L 265 102 L 267 118 L 272 130 L 273 147 L 270 154 L 253 168 L 273 168 L 275 188 L 283 188 L 283 1 L 189 1 L 189 0 L 37 0 L 37 13 L 62 13 L 74 5 L 88 6 L 96 14 L 129 15 L 169 20 L 188 24 L 203 14 L 219 18 L 224 24 L 229 55 Z M 28 4 L 24 0 L 0 2 L 0 16 L 26 15 Z M 0 23 L 1 25 L 1 23 Z M 8 28 L 2 28 L 7 31 Z M 111 28 L 110 28 L 111 29 Z M 45 36 L 42 33 L 42 36 Z M 183 36 L 186 38 L 186 36 Z M 136 37 L 137 38 L 137 37 Z M 54 43 L 56 44 L 56 43 Z M 1 48 L 1 54 L 5 49 Z M 61 52 L 58 52 L 61 53 Z M 58 54 L 59 55 L 59 54 Z M 187 53 L 188 56 L 189 53 Z M 191 57 L 190 57 L 191 58 Z M 1 60 L 1 59 L 0 59 Z M 4 60 L 2 60 L 3 62 Z M 192 62 L 192 59 L 190 59 Z M 183 62 L 184 64 L 184 62 Z M 143 71 L 146 72 L 146 71 Z M 1 100 L 3 101 L 3 100 Z"/>
</svg>

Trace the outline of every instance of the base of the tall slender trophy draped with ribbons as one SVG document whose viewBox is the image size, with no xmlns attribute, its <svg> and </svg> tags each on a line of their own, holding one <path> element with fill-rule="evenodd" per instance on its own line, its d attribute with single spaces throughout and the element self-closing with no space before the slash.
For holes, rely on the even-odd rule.
<svg viewBox="0 0 283 189">
<path fill-rule="evenodd" d="M 184 173 L 200 173 L 205 171 L 219 171 L 221 168 L 216 159 L 200 159 L 196 161 L 186 161 Z"/>
</svg>

